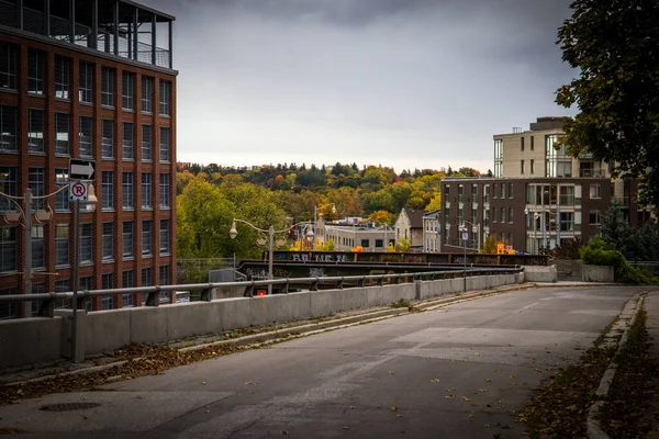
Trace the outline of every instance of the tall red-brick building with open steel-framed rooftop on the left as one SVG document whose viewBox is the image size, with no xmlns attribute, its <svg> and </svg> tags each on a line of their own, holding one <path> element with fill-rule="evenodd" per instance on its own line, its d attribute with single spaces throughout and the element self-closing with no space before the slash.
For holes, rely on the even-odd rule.
<svg viewBox="0 0 659 439">
<path fill-rule="evenodd" d="M 26 230 L 24 201 L 0 195 L 0 294 L 71 291 L 72 204 L 57 192 L 71 158 L 96 162 L 98 198 L 79 215 L 79 289 L 176 279 L 174 20 L 129 0 L 0 0 L 0 191 L 42 198 Z M 0 305 L 0 318 L 34 312 Z"/>
</svg>

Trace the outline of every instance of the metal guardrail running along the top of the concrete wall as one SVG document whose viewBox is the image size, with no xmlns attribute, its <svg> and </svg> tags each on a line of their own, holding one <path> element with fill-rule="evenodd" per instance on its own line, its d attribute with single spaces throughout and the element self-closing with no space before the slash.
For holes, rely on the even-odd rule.
<svg viewBox="0 0 659 439">
<path fill-rule="evenodd" d="M 147 294 L 145 306 L 159 306 L 159 295 L 161 292 L 174 291 L 177 294 L 179 292 L 192 292 L 200 291 L 200 302 L 210 302 L 212 300 L 212 291 L 214 289 L 227 289 L 227 288 L 245 288 L 245 297 L 254 297 L 254 292 L 259 286 L 267 289 L 269 284 L 272 286 L 279 286 L 279 294 L 287 294 L 290 291 L 291 284 L 308 285 L 309 291 L 319 291 L 321 285 L 331 285 L 334 289 L 343 290 L 346 284 L 355 285 L 357 288 L 364 288 L 370 284 L 383 285 L 386 281 L 390 283 L 399 284 L 401 282 L 415 282 L 420 280 L 442 280 L 442 279 L 457 279 L 465 277 L 474 275 L 488 275 L 488 274 L 513 274 L 518 273 L 523 269 L 522 267 L 515 268 L 472 268 L 468 267 L 467 270 L 450 270 L 450 271 L 426 271 L 416 273 L 390 273 L 390 274 L 366 274 L 366 275 L 340 275 L 340 277 L 324 277 L 324 278 L 283 278 L 272 280 L 255 280 L 255 281 L 242 281 L 242 282 L 213 282 L 213 283 L 190 283 L 179 285 L 156 285 L 156 286 L 137 286 L 137 288 L 125 288 L 125 289 L 110 289 L 110 290 L 82 290 L 76 294 L 78 301 L 78 309 L 85 309 L 85 301 L 88 297 L 98 297 L 114 294 Z M 258 295 L 258 294 L 257 294 Z M 49 292 L 49 293 L 36 293 L 36 294 L 8 294 L 0 295 L 0 304 L 2 303 L 15 303 L 15 302 L 38 302 L 40 317 L 53 317 L 55 315 L 55 302 L 57 300 L 74 300 L 72 292 Z M 175 302 L 176 303 L 176 302 Z M 168 306 L 170 304 L 165 304 Z"/>
</svg>

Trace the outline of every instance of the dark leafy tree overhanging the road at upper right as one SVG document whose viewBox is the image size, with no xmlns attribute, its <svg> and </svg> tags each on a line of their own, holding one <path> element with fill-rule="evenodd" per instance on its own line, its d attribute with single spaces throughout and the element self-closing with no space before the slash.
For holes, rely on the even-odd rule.
<svg viewBox="0 0 659 439">
<path fill-rule="evenodd" d="M 614 175 L 639 178 L 641 201 L 659 205 L 659 2 L 577 0 L 558 31 L 562 59 L 579 76 L 556 102 L 579 106 L 563 143 L 577 156 L 614 164 Z"/>
</svg>

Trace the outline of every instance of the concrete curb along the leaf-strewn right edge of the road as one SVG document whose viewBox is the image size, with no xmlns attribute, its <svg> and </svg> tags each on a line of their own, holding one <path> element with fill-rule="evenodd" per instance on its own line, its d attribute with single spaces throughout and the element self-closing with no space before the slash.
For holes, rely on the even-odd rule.
<svg viewBox="0 0 659 439">
<path fill-rule="evenodd" d="M 600 412 L 600 407 L 604 405 L 603 399 L 608 395 L 608 390 L 611 387 L 611 384 L 613 383 L 613 379 L 615 378 L 615 373 L 617 371 L 617 358 L 623 347 L 627 344 L 627 338 L 629 337 L 629 328 L 634 325 L 634 323 L 636 323 L 636 316 L 638 315 L 638 311 L 643 307 L 645 296 L 646 294 L 636 294 L 634 297 L 632 297 L 625 304 L 625 307 L 619 314 L 621 320 L 618 320 L 618 325 L 614 325 L 608 330 L 608 334 L 606 334 L 606 338 L 611 338 L 614 335 L 613 333 L 618 330 L 616 326 L 619 327 L 622 324 L 625 325 L 625 329 L 623 331 L 621 340 L 617 344 L 615 354 L 611 359 L 608 368 L 606 369 L 606 371 L 602 375 L 602 379 L 600 380 L 600 386 L 595 391 L 595 396 L 597 397 L 597 401 L 593 405 L 591 405 L 590 409 L 588 410 L 587 432 L 589 439 L 610 439 L 608 435 L 604 432 L 604 430 L 602 430 L 602 426 L 600 424 L 600 420 L 596 419 L 596 415 Z M 628 317 L 625 318 L 624 316 L 626 314 L 628 315 Z"/>
</svg>

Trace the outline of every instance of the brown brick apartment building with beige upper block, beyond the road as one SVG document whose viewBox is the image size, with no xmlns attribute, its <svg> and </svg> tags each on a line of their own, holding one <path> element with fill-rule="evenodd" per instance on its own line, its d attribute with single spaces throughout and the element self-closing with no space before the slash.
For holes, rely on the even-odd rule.
<svg viewBox="0 0 659 439">
<path fill-rule="evenodd" d="M 650 210 L 634 203 L 637 182 L 612 179 L 591 155 L 570 157 L 558 142 L 563 134 L 562 117 L 538 117 L 528 131 L 494 135 L 493 178 L 444 179 L 443 251 L 474 250 L 490 235 L 525 252 L 588 241 L 614 201 L 632 226 L 648 221 Z"/>
</svg>

